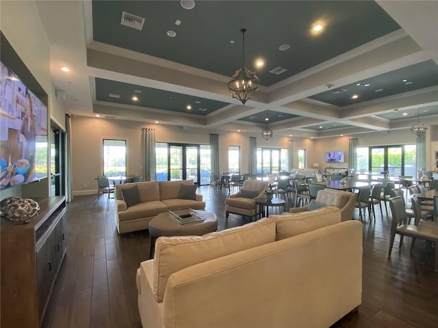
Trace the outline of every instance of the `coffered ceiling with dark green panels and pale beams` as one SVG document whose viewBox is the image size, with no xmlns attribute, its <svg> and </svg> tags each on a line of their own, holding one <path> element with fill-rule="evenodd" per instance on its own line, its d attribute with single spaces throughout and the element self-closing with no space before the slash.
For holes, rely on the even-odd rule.
<svg viewBox="0 0 438 328">
<path fill-rule="evenodd" d="M 301 137 L 409 128 L 418 117 L 438 124 L 438 1 L 37 6 L 53 84 L 73 115 L 250 133 L 269 124 Z M 134 27 L 121 24 L 124 13 Z M 261 82 L 244 106 L 227 91 L 243 62 Z"/>
</svg>

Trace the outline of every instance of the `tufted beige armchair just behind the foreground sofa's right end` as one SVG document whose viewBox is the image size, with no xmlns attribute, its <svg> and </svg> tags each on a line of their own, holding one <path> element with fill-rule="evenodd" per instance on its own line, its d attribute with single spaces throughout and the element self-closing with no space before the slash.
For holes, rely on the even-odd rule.
<svg viewBox="0 0 438 328">
<path fill-rule="evenodd" d="M 336 206 L 341 209 L 341 221 L 348 221 L 353 218 L 355 212 L 357 194 L 349 191 L 325 188 L 318 191 L 315 202 Z M 290 213 L 300 213 L 307 210 L 309 206 L 290 208 Z"/>
</svg>

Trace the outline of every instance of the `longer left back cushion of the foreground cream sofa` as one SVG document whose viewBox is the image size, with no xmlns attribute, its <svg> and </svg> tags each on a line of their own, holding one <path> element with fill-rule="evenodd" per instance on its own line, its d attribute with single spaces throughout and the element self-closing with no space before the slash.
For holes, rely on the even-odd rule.
<svg viewBox="0 0 438 328">
<path fill-rule="evenodd" d="M 244 226 L 211 232 L 204 236 L 159 237 L 155 243 L 153 293 L 164 297 L 172 273 L 194 264 L 275 241 L 275 223 L 264 218 Z"/>
</svg>

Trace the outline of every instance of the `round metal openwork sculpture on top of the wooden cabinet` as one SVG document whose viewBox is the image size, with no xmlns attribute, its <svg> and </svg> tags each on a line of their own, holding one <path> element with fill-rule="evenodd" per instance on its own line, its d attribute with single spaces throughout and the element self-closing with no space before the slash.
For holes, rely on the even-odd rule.
<svg viewBox="0 0 438 328">
<path fill-rule="evenodd" d="M 7 197 L 0 206 L 5 219 L 17 224 L 28 223 L 40 210 L 40 205 L 31 198 Z"/>
</svg>

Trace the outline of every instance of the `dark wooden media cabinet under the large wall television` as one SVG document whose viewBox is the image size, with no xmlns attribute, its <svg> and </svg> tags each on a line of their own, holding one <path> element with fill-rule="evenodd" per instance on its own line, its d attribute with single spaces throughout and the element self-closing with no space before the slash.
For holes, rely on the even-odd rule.
<svg viewBox="0 0 438 328">
<path fill-rule="evenodd" d="M 66 254 L 65 197 L 36 201 L 29 223 L 1 220 L 1 327 L 40 327 Z"/>
</svg>

